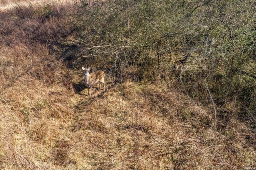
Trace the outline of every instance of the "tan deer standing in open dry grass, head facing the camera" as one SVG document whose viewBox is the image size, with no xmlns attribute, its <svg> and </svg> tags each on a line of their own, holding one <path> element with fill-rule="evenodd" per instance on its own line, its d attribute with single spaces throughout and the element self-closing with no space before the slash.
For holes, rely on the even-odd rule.
<svg viewBox="0 0 256 170">
<path fill-rule="evenodd" d="M 94 73 L 89 73 L 90 69 L 92 69 L 92 67 L 89 67 L 88 69 L 82 67 L 82 70 L 84 70 L 85 84 L 87 85 L 88 89 L 88 97 L 91 96 L 91 87 L 99 81 L 104 84 L 105 91 L 104 71 L 98 70 Z"/>
</svg>

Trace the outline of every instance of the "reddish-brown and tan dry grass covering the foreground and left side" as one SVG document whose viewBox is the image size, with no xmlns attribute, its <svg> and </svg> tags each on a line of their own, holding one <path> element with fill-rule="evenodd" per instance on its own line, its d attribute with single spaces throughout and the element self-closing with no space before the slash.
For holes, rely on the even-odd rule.
<svg viewBox="0 0 256 170">
<path fill-rule="evenodd" d="M 0 13 L 1 169 L 256 166 L 246 123 L 234 116 L 215 131 L 211 109 L 161 81 L 108 85 L 91 98 L 78 93 L 82 72 L 58 57 L 61 41 L 72 38 L 72 6 L 50 6 L 51 16 L 41 9 Z"/>
</svg>

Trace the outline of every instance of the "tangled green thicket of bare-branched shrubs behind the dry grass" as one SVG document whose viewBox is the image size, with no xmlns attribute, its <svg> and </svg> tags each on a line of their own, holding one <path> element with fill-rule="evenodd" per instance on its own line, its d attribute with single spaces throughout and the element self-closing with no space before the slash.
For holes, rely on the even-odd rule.
<svg viewBox="0 0 256 170">
<path fill-rule="evenodd" d="M 254 1 L 80 0 L 77 7 L 82 63 L 119 81 L 165 81 L 210 105 L 221 122 L 235 113 L 255 124 Z M 179 73 L 174 66 L 184 58 Z"/>
</svg>

